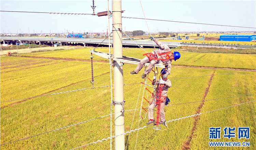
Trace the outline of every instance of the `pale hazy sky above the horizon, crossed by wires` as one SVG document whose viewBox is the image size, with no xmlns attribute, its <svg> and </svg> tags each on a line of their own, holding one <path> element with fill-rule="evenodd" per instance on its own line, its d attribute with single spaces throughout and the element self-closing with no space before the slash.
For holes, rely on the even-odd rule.
<svg viewBox="0 0 256 150">
<path fill-rule="evenodd" d="M 110 2 L 110 11 L 112 3 Z M 92 0 L 84 1 L 3 1 L 1 11 L 58 12 L 92 14 Z M 107 0 L 95 0 L 95 13 L 106 11 Z M 256 27 L 256 1 L 153 1 L 142 0 L 146 18 Z M 122 16 L 144 18 L 140 0 L 122 0 Z M 148 21 L 151 32 L 255 31 L 255 29 Z M 112 25 L 112 20 L 110 20 Z M 148 31 L 145 20 L 122 19 L 124 31 Z M 1 33 L 106 32 L 107 16 L 60 15 L 1 12 Z M 28 30 L 29 28 L 29 30 Z M 9 31 L 8 31 L 9 30 Z M 112 29 L 111 29 L 112 30 Z"/>
</svg>

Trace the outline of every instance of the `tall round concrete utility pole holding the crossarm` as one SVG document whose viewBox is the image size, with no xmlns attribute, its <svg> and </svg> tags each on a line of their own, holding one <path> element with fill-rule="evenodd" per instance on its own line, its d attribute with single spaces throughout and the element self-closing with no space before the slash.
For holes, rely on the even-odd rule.
<svg viewBox="0 0 256 150">
<path fill-rule="evenodd" d="M 113 15 L 113 53 L 114 58 L 123 57 L 122 45 L 122 8 L 121 0 L 112 0 Z M 125 132 L 124 118 L 124 76 L 123 63 L 114 61 L 114 104 L 115 104 L 115 135 Z M 122 112 L 121 112 L 122 111 Z M 120 113 L 118 113 L 120 112 Z M 125 135 L 115 138 L 115 149 L 125 149 Z"/>
</svg>

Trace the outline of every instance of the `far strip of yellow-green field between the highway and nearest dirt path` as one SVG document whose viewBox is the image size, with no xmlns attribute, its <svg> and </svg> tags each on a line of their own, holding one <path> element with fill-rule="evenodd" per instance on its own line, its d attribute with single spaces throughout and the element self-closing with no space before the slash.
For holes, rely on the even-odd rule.
<svg viewBox="0 0 256 150">
<path fill-rule="evenodd" d="M 39 53 L 26 53 L 20 56 L 33 56 L 33 57 L 52 57 L 52 58 L 72 58 L 72 59 L 85 59 L 90 60 L 90 53 L 88 48 L 76 50 L 59 50 L 54 52 L 39 52 Z M 147 52 L 152 52 L 154 49 L 145 49 Z M 108 53 L 109 50 L 105 48 L 97 49 L 96 51 Z M 175 51 L 175 50 L 174 50 Z M 123 49 L 123 55 L 133 58 L 144 58 L 145 54 L 142 49 Z M 95 56 L 94 60 L 108 59 Z M 256 69 L 256 55 L 243 55 L 243 54 L 205 54 L 205 53 L 186 53 L 181 52 L 181 58 L 172 62 L 173 65 L 185 65 L 195 67 L 216 67 L 216 68 L 231 68 L 231 69 Z"/>
</svg>

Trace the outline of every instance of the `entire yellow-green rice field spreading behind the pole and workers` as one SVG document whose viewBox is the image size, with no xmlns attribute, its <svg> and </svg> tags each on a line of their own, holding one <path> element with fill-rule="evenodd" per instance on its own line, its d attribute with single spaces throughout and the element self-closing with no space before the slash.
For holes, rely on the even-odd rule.
<svg viewBox="0 0 256 150">
<path fill-rule="evenodd" d="M 110 137 L 110 87 L 102 87 L 110 85 L 110 65 L 108 59 L 94 55 L 96 88 L 90 89 L 89 50 L 1 57 L 1 150 L 73 149 Z M 105 48 L 96 50 L 108 52 Z M 144 53 L 141 49 L 123 49 L 123 55 L 139 59 Z M 168 128 L 160 125 L 162 130 L 158 132 L 147 127 L 132 132 L 130 136 L 126 134 L 127 150 L 256 149 L 256 55 L 181 52 L 181 56 L 172 62 L 168 76 L 172 87 L 168 90 L 171 106 L 165 107 L 166 121 L 202 114 L 170 121 Z M 144 88 L 140 84 L 144 82 L 140 77 L 143 72 L 131 75 L 135 68 L 134 64 L 124 65 L 124 84 L 127 84 L 124 85 L 125 110 L 140 108 L 143 99 L 143 92 L 140 92 Z M 149 77 L 153 78 L 153 72 Z M 153 91 L 151 87 L 148 89 Z M 150 93 L 145 94 L 150 96 Z M 26 97 L 33 98 L 22 99 Z M 245 102 L 249 103 L 243 104 Z M 148 107 L 145 100 L 142 106 Z M 140 110 L 124 112 L 125 132 L 146 125 L 148 119 L 140 120 L 139 114 Z M 142 116 L 147 116 L 144 110 Z M 220 139 L 209 139 L 211 127 L 221 127 Z M 225 127 L 236 127 L 236 137 L 223 137 Z M 250 138 L 238 139 L 238 127 L 250 127 Z M 114 135 L 114 125 L 112 128 Z M 30 137 L 33 135 L 38 136 Z M 23 138 L 27 139 L 19 140 Z M 13 142 L 16 140 L 19 141 Z M 112 149 L 115 148 L 114 140 Z M 9 142 L 13 143 L 6 144 Z M 209 142 L 250 142 L 250 147 L 210 147 Z M 110 139 L 80 149 L 110 149 Z"/>
</svg>

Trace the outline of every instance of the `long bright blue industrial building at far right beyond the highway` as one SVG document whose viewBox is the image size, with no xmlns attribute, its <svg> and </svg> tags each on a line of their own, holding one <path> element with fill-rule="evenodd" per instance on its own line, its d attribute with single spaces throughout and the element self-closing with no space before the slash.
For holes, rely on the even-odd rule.
<svg viewBox="0 0 256 150">
<path fill-rule="evenodd" d="M 219 40 L 250 42 L 252 40 L 256 40 L 256 35 L 221 35 L 219 36 Z"/>
</svg>

